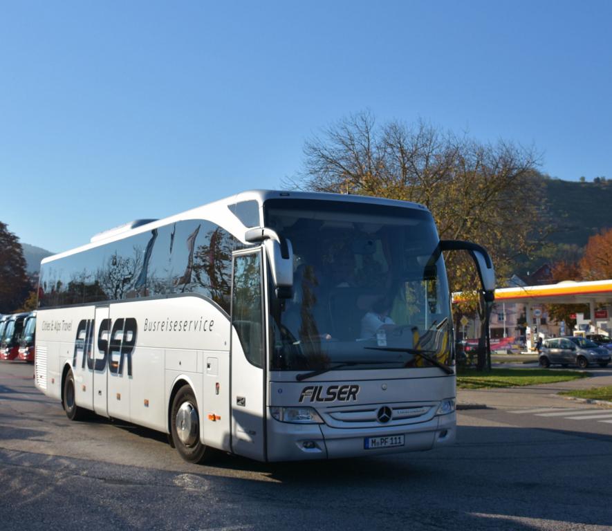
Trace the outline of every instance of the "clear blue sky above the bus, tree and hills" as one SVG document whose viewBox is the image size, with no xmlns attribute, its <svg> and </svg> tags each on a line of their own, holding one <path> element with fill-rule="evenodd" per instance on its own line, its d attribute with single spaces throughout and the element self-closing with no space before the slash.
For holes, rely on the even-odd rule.
<svg viewBox="0 0 612 531">
<path fill-rule="evenodd" d="M 607 1 L 2 1 L 0 221 L 60 252 L 277 188 L 350 113 L 612 178 Z"/>
</svg>

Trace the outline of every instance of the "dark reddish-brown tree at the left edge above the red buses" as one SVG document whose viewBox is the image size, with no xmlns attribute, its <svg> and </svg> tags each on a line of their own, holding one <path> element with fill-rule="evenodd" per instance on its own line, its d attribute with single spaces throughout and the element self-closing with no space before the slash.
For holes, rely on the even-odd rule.
<svg viewBox="0 0 612 531">
<path fill-rule="evenodd" d="M 24 250 L 17 236 L 0 221 L 0 313 L 17 310 L 30 290 Z"/>
</svg>

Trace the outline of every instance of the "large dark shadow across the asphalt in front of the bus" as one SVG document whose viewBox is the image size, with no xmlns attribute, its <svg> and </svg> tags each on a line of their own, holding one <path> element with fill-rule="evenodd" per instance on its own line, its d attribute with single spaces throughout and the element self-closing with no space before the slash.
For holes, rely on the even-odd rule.
<svg viewBox="0 0 612 531">
<path fill-rule="evenodd" d="M 148 430 L 136 431 L 147 436 Z M 8 525 L 48 500 L 54 505 L 61 502 L 68 512 L 91 509 L 93 504 L 92 525 L 104 525 L 108 518 L 126 528 L 136 519 L 138 528 L 169 529 L 176 526 L 178 515 L 180 528 L 194 529 L 231 525 L 292 530 L 398 525 L 415 530 L 612 528 L 612 438 L 576 444 L 575 435 L 461 427 L 458 445 L 420 454 L 271 464 L 216 454 L 205 466 L 183 464 L 176 472 L 156 469 L 155 463 L 127 467 L 0 450 L 0 481 L 10 477 L 14 486 L 15 478 L 21 477 L 18 488 L 12 489 L 12 499 L 21 501 L 10 513 Z M 38 476 L 39 469 L 44 469 L 44 478 Z M 50 488 L 46 477 L 50 472 L 63 474 L 64 481 Z M 79 479 L 74 482 L 72 477 Z M 29 503 L 28 496 L 20 496 L 35 490 L 39 481 L 45 481 L 43 501 Z M 100 505 L 99 495 L 91 497 L 98 488 L 105 493 Z M 145 490 L 150 503 L 131 506 L 131 519 L 125 512 L 113 512 L 113 507 L 121 507 L 130 496 L 140 498 L 137 492 Z M 198 514 L 213 501 L 232 511 L 221 521 L 207 520 L 203 525 Z M 0 501 L 3 514 L 4 509 L 6 501 Z M 45 521 L 53 523 L 53 513 L 47 513 Z"/>
</svg>

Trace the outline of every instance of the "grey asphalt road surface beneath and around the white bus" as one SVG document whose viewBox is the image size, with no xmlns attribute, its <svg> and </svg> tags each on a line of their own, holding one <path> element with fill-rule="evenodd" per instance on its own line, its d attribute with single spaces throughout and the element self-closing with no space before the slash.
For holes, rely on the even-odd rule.
<svg viewBox="0 0 612 531">
<path fill-rule="evenodd" d="M 32 374 L 0 364 L 0 530 L 612 528 L 608 411 L 556 398 L 558 386 L 460 394 L 471 409 L 448 449 L 281 465 L 216 454 L 203 466 L 154 431 L 69 422 Z"/>
</svg>

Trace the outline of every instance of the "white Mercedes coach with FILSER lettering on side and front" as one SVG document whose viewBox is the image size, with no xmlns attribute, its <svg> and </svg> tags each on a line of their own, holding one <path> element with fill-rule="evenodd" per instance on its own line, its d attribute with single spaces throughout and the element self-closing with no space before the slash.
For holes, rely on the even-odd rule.
<svg viewBox="0 0 612 531">
<path fill-rule="evenodd" d="M 91 411 L 261 461 L 452 443 L 456 371 L 440 241 L 422 205 L 244 192 L 118 227 L 41 263 L 35 381 Z"/>
</svg>

